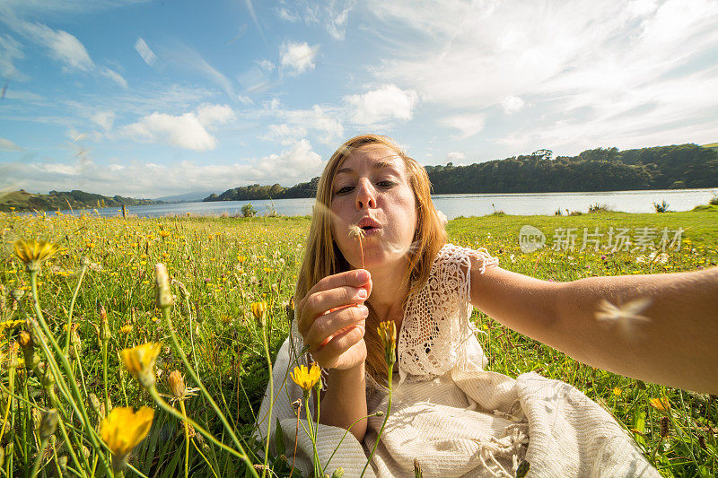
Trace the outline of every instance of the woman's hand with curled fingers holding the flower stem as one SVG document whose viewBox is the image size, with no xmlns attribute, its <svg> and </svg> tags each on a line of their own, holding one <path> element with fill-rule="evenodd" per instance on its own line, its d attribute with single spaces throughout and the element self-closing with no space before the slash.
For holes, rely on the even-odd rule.
<svg viewBox="0 0 718 478">
<path fill-rule="evenodd" d="M 366 360 L 363 305 L 372 293 L 368 271 L 329 275 L 297 304 L 297 326 L 309 352 L 325 369 L 351 369 Z"/>
</svg>

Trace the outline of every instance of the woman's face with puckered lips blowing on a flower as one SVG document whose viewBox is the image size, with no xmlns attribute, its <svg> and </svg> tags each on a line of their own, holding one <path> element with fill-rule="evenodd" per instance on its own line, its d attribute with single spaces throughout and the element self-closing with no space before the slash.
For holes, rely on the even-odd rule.
<svg viewBox="0 0 718 478">
<path fill-rule="evenodd" d="M 416 229 L 416 199 L 396 152 L 367 144 L 352 152 L 332 184 L 332 233 L 346 261 L 370 271 L 406 259 Z M 350 227 L 363 230 L 359 240 Z"/>
</svg>

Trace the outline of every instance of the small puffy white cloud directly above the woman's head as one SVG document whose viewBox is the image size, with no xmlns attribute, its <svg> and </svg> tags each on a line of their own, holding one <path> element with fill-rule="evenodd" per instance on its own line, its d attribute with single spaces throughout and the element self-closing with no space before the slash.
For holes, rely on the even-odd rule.
<svg viewBox="0 0 718 478">
<path fill-rule="evenodd" d="M 418 96 L 416 91 L 384 84 L 363 95 L 347 96 L 345 100 L 354 109 L 352 120 L 355 124 L 369 126 L 393 119 L 411 119 Z"/>
</svg>

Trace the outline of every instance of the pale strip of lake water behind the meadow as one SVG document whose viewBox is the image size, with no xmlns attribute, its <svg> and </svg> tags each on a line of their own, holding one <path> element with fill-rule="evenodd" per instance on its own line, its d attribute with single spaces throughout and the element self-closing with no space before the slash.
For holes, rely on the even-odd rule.
<svg viewBox="0 0 718 478">
<path fill-rule="evenodd" d="M 599 193 L 517 193 L 436 195 L 433 204 L 449 219 L 459 216 L 483 216 L 503 211 L 507 214 L 553 214 L 557 209 L 563 213 L 581 211 L 586 213 L 592 204 L 606 204 L 614 211 L 625 213 L 654 213 L 653 203 L 665 201 L 670 211 L 689 211 L 696 205 L 708 204 L 718 194 L 718 188 L 664 189 L 650 191 L 610 191 Z M 237 215 L 241 206 L 252 204 L 260 215 L 265 215 L 274 204 L 276 212 L 283 215 L 309 215 L 314 199 L 277 199 L 275 201 L 219 201 L 213 203 L 180 203 L 131 206 L 127 212 L 133 216 L 193 216 Z M 492 205 L 493 204 L 493 205 Z M 98 210 L 101 216 L 118 216 L 116 207 Z"/>
</svg>

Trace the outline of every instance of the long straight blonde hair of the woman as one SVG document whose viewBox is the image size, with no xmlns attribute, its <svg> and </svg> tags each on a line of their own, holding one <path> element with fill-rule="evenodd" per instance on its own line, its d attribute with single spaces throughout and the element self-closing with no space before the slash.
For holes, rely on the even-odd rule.
<svg viewBox="0 0 718 478">
<path fill-rule="evenodd" d="M 399 148 L 397 143 L 394 143 L 387 136 L 355 136 L 339 146 L 337 151 L 329 158 L 327 166 L 321 174 L 317 187 L 317 202 L 314 206 L 302 268 L 297 281 L 295 295 L 297 300 L 301 300 L 324 277 L 352 269 L 352 266 L 349 265 L 337 247 L 337 242 L 332 234 L 330 213 L 332 183 L 337 174 L 337 169 L 341 167 L 346 158 L 356 149 L 369 144 L 385 146 L 404 161 L 407 168 L 409 187 L 416 200 L 416 229 L 412 239 L 412 247 L 407 252 L 407 270 L 399 284 L 399 290 L 408 290 L 407 295 L 402 300 L 402 308 L 406 306 L 407 300 L 412 294 L 424 287 L 431 273 L 433 258 L 446 244 L 446 231 L 436 213 L 436 209 L 433 207 L 431 183 L 424 167 L 411 159 Z M 386 380 L 387 368 L 383 359 L 384 354 L 379 335 L 376 331 L 380 319 L 368 302 L 366 306 L 369 308 L 369 317 L 366 319 L 366 332 L 364 334 L 367 349 L 366 370 L 372 378 L 383 382 Z"/>
</svg>

